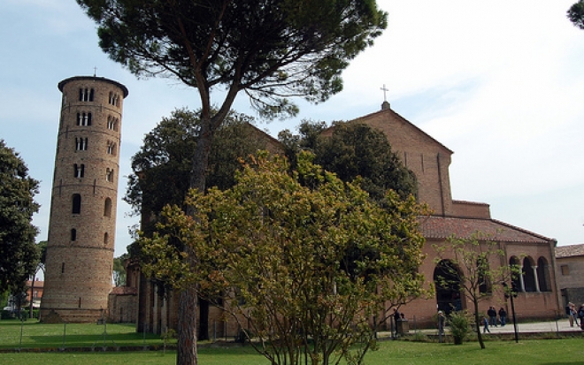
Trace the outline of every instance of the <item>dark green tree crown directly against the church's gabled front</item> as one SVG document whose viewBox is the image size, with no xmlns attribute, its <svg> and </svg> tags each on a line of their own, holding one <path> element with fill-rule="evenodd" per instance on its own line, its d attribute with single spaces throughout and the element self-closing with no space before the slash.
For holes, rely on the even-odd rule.
<svg viewBox="0 0 584 365">
<path fill-rule="evenodd" d="M 326 126 L 305 120 L 299 127 L 299 136 L 288 131 L 280 133 L 288 158 L 294 161 L 297 151 L 311 150 L 316 155 L 315 163 L 343 181 L 360 177 L 361 187 L 378 202 L 383 201 L 388 189 L 402 199 L 416 194 L 415 175 L 391 150 L 384 133 L 369 125 L 335 122 L 333 134 L 325 137 L 321 133 Z"/>
</svg>

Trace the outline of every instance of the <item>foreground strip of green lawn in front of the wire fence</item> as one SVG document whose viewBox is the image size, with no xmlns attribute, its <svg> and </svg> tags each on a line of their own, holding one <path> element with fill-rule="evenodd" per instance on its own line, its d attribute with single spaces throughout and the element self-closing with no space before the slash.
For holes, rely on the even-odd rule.
<svg viewBox="0 0 584 365">
<path fill-rule="evenodd" d="M 409 341 L 383 341 L 380 350 L 367 354 L 367 365 L 575 365 L 584 363 L 581 348 L 584 340 L 537 339 L 516 344 L 514 341 L 488 342 L 487 348 L 466 343 L 462 346 Z M 1 364 L 23 364 L 41 361 L 43 365 L 160 364 L 172 365 L 175 353 L 12 353 L 0 354 Z M 227 349 L 202 348 L 199 363 L 204 365 L 268 365 L 249 346 Z"/>
</svg>

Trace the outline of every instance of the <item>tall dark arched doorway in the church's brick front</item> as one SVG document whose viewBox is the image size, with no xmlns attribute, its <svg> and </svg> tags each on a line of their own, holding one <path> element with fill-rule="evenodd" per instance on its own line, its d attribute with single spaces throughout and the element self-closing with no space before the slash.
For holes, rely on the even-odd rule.
<svg viewBox="0 0 584 365">
<path fill-rule="evenodd" d="M 460 295 L 460 277 L 454 274 L 457 271 L 459 269 L 450 260 L 442 260 L 434 268 L 436 303 L 438 310 L 442 310 L 446 314 L 464 308 Z"/>
</svg>

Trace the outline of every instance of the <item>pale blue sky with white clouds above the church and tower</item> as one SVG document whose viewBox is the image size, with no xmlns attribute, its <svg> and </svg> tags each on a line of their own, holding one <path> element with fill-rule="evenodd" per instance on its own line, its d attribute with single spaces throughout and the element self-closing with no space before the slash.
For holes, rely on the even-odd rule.
<svg viewBox="0 0 584 365">
<path fill-rule="evenodd" d="M 385 84 L 393 110 L 455 152 L 454 199 L 487 202 L 492 217 L 558 245 L 584 243 L 584 31 L 565 18 L 573 2 L 380 0 L 388 29 L 343 73 L 342 93 L 298 101 L 298 118 L 257 126 L 276 136 L 302 118 L 357 118 L 380 109 Z M 74 0 L 2 0 L 0 19 L 0 139 L 41 180 L 37 240 L 49 225 L 58 82 L 96 67 L 129 89 L 115 255 L 123 254 L 137 223 L 121 202 L 130 158 L 162 117 L 199 106 L 196 90 L 136 80 L 99 49 L 95 24 Z M 244 95 L 235 109 L 253 115 Z"/>
</svg>

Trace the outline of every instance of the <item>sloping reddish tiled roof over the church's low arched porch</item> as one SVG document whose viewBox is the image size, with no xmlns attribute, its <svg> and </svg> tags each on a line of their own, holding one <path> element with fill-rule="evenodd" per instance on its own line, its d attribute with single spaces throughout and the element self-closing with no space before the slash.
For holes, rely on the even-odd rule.
<svg viewBox="0 0 584 365">
<path fill-rule="evenodd" d="M 526 231 L 495 219 L 474 219 L 457 217 L 421 217 L 420 229 L 426 239 L 447 239 L 454 235 L 468 239 L 474 232 L 481 232 L 491 240 L 505 242 L 549 242 L 552 239 Z"/>
</svg>

